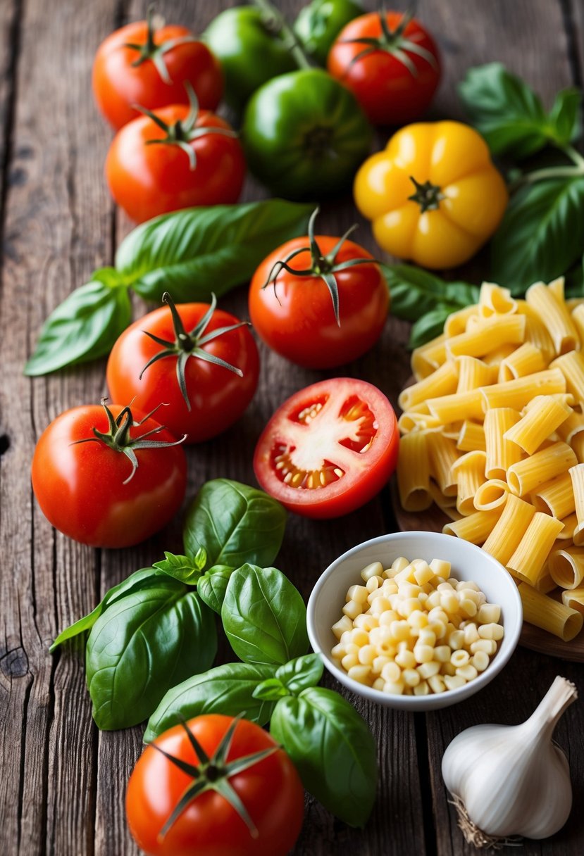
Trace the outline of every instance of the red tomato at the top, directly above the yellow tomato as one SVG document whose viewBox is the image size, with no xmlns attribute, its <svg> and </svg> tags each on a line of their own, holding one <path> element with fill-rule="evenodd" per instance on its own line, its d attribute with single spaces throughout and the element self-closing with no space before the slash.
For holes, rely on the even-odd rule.
<svg viewBox="0 0 584 856">
<path fill-rule="evenodd" d="M 374 125 L 417 119 L 440 81 L 432 36 L 402 12 L 370 12 L 351 21 L 331 48 L 328 69 L 349 86 Z"/>
</svg>

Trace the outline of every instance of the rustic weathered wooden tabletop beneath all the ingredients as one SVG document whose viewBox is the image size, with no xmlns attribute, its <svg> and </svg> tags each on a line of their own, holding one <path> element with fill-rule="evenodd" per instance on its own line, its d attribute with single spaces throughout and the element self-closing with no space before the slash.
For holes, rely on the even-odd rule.
<svg viewBox="0 0 584 856">
<path fill-rule="evenodd" d="M 202 30 L 226 0 L 166 0 L 168 20 Z M 160 4 L 163 5 L 162 3 Z M 278 5 L 288 12 L 299 0 Z M 456 81 L 468 66 L 501 60 L 547 104 L 582 85 L 582 0 L 420 0 L 419 16 L 438 38 L 444 80 L 432 116 L 462 117 Z M 92 270 L 110 265 L 130 229 L 111 203 L 103 166 L 110 141 L 92 102 L 92 56 L 101 39 L 143 17 L 138 0 L 2 0 L 0 3 L 0 229 L 2 268 L 2 421 L 0 423 L 0 853 L 3 856 L 122 856 L 137 853 L 123 794 L 141 750 L 142 728 L 99 733 L 90 713 L 80 647 L 51 656 L 57 632 L 88 612 L 110 586 L 180 552 L 180 525 L 134 550 L 90 550 L 51 529 L 33 500 L 28 471 L 34 443 L 67 407 L 104 395 L 104 362 L 35 380 L 22 375 L 46 315 Z M 264 195 L 250 181 L 247 198 Z M 340 234 L 355 221 L 348 198 L 330 205 L 321 229 Z M 373 247 L 361 224 L 359 240 Z M 462 271 L 475 281 L 487 257 Z M 245 316 L 246 289 L 222 301 Z M 145 306 L 136 304 L 136 313 Z M 219 475 L 253 483 L 253 445 L 265 420 L 295 389 L 341 373 L 376 383 L 396 404 L 408 377 L 405 324 L 390 319 L 382 341 L 340 372 L 307 372 L 262 348 L 258 394 L 234 429 L 188 451 L 189 495 Z M 313 580 L 353 544 L 395 528 L 389 492 L 347 519 L 310 522 L 290 515 L 279 565 L 308 597 Z M 471 853 L 456 828 L 440 776 L 444 747 L 478 722 L 520 722 L 554 675 L 584 690 L 582 666 L 517 650 L 476 698 L 428 715 L 358 704 L 378 740 L 378 798 L 366 829 L 349 829 L 314 800 L 297 856 L 421 856 Z M 338 685 L 326 680 L 327 686 Z M 355 700 L 355 699 L 352 699 Z M 584 850 L 584 704 L 557 729 L 568 752 L 575 809 L 550 841 L 522 853 L 570 856 Z M 512 851 L 508 850 L 509 853 Z M 515 851 L 513 851 L 515 852 Z"/>
</svg>

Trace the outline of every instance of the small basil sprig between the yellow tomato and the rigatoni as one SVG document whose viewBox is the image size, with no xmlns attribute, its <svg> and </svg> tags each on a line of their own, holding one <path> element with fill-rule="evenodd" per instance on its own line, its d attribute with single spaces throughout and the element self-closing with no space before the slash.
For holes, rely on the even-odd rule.
<svg viewBox="0 0 584 856">
<path fill-rule="evenodd" d="M 391 312 L 412 321 L 408 347 L 418 348 L 439 336 L 451 312 L 479 300 L 479 288 L 468 282 L 446 282 L 413 265 L 381 265 L 390 288 Z"/>
</svg>

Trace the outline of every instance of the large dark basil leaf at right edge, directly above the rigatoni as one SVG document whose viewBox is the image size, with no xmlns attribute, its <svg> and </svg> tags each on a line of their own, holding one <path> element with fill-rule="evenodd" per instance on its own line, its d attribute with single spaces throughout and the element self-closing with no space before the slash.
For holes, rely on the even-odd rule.
<svg viewBox="0 0 584 856">
<path fill-rule="evenodd" d="M 584 246 L 584 178 L 521 187 L 492 241 L 492 277 L 522 294 L 568 270 Z"/>
</svg>

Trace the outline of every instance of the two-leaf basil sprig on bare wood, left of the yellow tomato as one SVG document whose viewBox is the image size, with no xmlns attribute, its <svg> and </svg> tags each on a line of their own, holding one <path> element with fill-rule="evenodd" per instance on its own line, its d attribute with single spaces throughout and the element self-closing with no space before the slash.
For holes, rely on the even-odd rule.
<svg viewBox="0 0 584 856">
<path fill-rule="evenodd" d="M 275 247 L 306 232 L 312 210 L 265 199 L 188 208 L 142 223 L 118 247 L 115 268 L 96 270 L 51 312 L 25 374 L 108 354 L 131 321 L 129 288 L 157 302 L 164 291 L 182 303 L 225 294 L 246 282 Z"/>
</svg>

